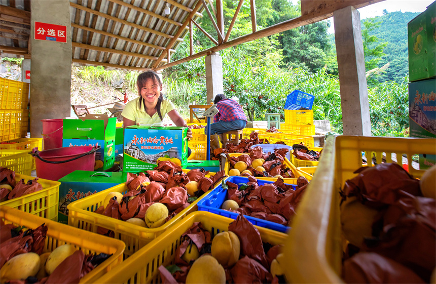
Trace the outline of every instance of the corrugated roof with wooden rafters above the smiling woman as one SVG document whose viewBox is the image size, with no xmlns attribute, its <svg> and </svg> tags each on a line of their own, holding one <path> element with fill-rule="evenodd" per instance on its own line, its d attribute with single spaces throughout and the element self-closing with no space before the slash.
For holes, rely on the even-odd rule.
<svg viewBox="0 0 436 284">
<path fill-rule="evenodd" d="M 170 53 L 175 51 L 189 32 L 188 27 L 179 33 L 175 42 L 171 39 L 184 22 L 189 21 L 190 11 L 197 4 L 197 0 L 167 1 L 171 10 L 169 15 L 164 13 L 164 0 L 70 0 L 73 62 L 129 69 L 156 67 L 157 61 L 160 65 L 165 64 L 168 49 Z M 28 1 L 12 3 L 15 7 L 11 7 L 11 1 L 0 0 L 0 5 L 30 11 Z M 0 14 L 4 12 L 0 11 Z M 197 13 L 193 19 L 198 16 Z M 30 14 L 27 20 L 24 18 L 19 20 L 30 23 Z M 0 24 L 6 24 L 2 20 L 3 17 Z M 13 25 L 9 27 L 11 32 L 2 25 L 0 46 L 4 53 L 11 52 L 7 47 L 23 48 L 16 54 L 25 55 L 30 26 Z"/>
</svg>

